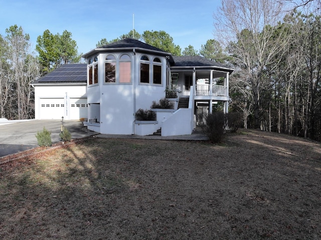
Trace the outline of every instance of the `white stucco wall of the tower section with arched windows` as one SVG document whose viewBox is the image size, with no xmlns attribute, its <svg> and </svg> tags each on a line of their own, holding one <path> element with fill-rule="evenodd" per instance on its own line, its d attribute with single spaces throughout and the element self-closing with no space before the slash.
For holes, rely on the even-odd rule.
<svg viewBox="0 0 321 240">
<path fill-rule="evenodd" d="M 162 84 L 140 84 L 140 58 L 145 55 L 152 60 L 155 56 L 143 53 L 114 52 L 116 59 L 127 54 L 131 58 L 131 84 L 105 84 L 105 58 L 111 53 L 101 53 L 98 57 L 98 85 L 88 86 L 88 104 L 100 103 L 100 133 L 123 134 L 135 133 L 135 112 L 139 109 L 150 109 L 152 101 L 165 97 L 166 89 L 166 59 L 156 56 L 162 61 Z M 93 58 L 93 57 L 92 57 Z M 117 79 L 116 68 L 116 79 Z M 152 80 L 150 80 L 152 81 Z M 88 118 L 91 118 L 90 108 Z M 98 121 L 98 120 L 97 120 Z M 90 129 L 90 126 L 89 126 Z"/>
</svg>

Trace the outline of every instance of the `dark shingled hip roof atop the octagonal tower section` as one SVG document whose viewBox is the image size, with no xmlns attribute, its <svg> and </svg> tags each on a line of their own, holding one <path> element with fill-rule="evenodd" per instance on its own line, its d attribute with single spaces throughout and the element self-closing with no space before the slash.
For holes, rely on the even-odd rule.
<svg viewBox="0 0 321 240">
<path fill-rule="evenodd" d="M 103 47 L 100 48 L 96 48 L 94 50 L 91 50 L 90 52 L 84 54 L 82 57 L 83 58 L 88 58 L 96 53 L 99 52 L 104 52 L 104 51 L 129 51 L 135 49 L 136 51 L 144 51 L 144 52 L 154 52 L 160 55 L 165 55 L 169 57 L 169 61 L 171 63 L 174 63 L 173 57 L 171 53 L 168 53 L 162 49 L 159 48 L 155 48 L 149 44 L 140 42 L 136 39 L 132 39 L 132 38 L 125 38 L 123 40 L 120 40 L 118 42 L 114 42 L 114 43 L 110 43 L 107 44 Z"/>
</svg>

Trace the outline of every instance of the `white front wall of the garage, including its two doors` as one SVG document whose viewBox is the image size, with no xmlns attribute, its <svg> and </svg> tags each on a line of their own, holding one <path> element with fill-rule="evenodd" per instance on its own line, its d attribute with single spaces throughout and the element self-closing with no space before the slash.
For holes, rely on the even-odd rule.
<svg viewBox="0 0 321 240">
<path fill-rule="evenodd" d="M 81 116 L 71 114 L 71 103 L 84 103 L 84 99 L 87 99 L 87 88 L 85 84 L 43 84 L 35 85 L 35 119 L 61 119 L 63 116 L 66 120 L 79 119 L 80 117 L 87 117 L 85 111 L 79 111 Z M 53 113 L 51 108 L 42 107 L 43 103 L 48 104 L 64 104 L 61 111 L 57 114 Z M 81 105 L 80 105 L 81 106 Z M 56 111 L 56 108 L 54 110 Z M 87 108 L 87 105 L 85 106 Z M 77 112 L 77 111 L 74 111 Z"/>
</svg>

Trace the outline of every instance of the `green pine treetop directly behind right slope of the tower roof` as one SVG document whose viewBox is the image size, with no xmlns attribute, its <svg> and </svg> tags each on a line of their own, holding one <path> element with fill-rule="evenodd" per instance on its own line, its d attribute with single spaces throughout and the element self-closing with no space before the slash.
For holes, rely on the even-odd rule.
<svg viewBox="0 0 321 240">
<path fill-rule="evenodd" d="M 165 31 L 145 31 L 142 39 L 146 44 L 162 49 L 174 56 L 181 56 L 181 47 L 173 43 L 173 38 Z"/>
</svg>

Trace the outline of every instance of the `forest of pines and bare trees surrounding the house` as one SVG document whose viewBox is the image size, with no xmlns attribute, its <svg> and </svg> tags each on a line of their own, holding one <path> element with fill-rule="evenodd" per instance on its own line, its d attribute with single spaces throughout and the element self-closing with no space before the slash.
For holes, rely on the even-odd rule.
<svg viewBox="0 0 321 240">
<path fill-rule="evenodd" d="M 213 14 L 213 39 L 200 50 L 190 45 L 182 51 L 165 31 L 134 30 L 96 47 L 134 36 L 175 56 L 201 55 L 233 67 L 229 111 L 241 113 L 244 128 L 320 141 L 320 8 L 320 0 L 224 0 Z M 0 117 L 33 119 L 32 83 L 84 60 L 67 30 L 46 30 L 35 50 L 23 27 L 10 26 L 6 34 L 0 35 Z"/>
</svg>

